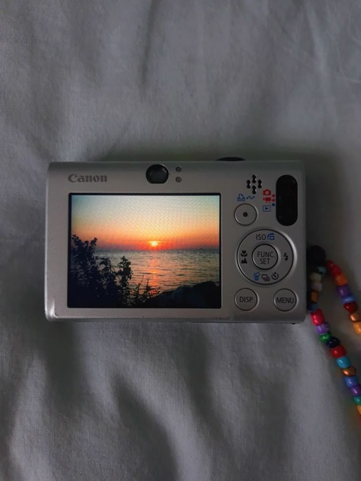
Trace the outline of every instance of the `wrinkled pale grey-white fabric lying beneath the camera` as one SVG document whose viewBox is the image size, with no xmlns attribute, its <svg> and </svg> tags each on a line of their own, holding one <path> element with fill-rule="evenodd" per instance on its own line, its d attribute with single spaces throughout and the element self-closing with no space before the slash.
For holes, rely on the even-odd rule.
<svg viewBox="0 0 361 481">
<path fill-rule="evenodd" d="M 2 0 L 1 480 L 360 480 L 360 416 L 309 320 L 50 324 L 43 310 L 60 160 L 303 159 L 308 239 L 360 291 L 360 25 L 356 0 Z"/>
</svg>

